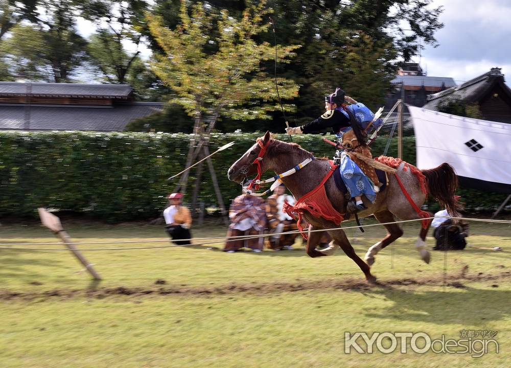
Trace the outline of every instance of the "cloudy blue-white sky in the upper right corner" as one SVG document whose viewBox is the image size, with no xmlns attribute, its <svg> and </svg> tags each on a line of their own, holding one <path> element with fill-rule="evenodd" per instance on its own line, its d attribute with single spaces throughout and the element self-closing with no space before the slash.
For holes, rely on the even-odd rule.
<svg viewBox="0 0 511 368">
<path fill-rule="evenodd" d="M 444 6 L 445 27 L 436 33 L 439 46 L 422 52 L 428 76 L 460 84 L 498 66 L 511 85 L 511 1 L 434 0 L 433 5 Z"/>
</svg>

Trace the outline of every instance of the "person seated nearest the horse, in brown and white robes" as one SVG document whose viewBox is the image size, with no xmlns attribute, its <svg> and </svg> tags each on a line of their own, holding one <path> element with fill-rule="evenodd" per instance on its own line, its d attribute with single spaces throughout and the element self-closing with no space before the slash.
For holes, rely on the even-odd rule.
<svg viewBox="0 0 511 368">
<path fill-rule="evenodd" d="M 268 228 L 270 233 L 282 233 L 286 231 L 298 230 L 296 220 L 287 213 L 282 212 L 282 205 L 287 201 L 290 205 L 294 204 L 294 197 L 285 194 L 286 186 L 281 184 L 273 190 L 273 194 L 266 200 L 266 216 L 268 218 Z M 275 251 L 282 249 L 293 249 L 294 240 L 300 233 L 272 235 L 269 237 L 268 248 Z"/>
</svg>

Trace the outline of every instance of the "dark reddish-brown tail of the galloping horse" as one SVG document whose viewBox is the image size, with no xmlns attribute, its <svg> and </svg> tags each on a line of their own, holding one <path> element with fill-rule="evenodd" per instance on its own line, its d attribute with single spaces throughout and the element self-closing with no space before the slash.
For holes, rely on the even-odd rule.
<svg viewBox="0 0 511 368">
<path fill-rule="evenodd" d="M 428 170 L 421 170 L 428 183 L 429 194 L 445 206 L 451 216 L 457 216 L 462 206 L 454 198 L 454 192 L 458 188 L 456 171 L 447 162 Z"/>
</svg>

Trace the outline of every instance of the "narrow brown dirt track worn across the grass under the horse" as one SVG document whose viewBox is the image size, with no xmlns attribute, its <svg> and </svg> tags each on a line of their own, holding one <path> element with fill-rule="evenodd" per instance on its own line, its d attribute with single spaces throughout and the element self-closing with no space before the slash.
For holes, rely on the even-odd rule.
<svg viewBox="0 0 511 368">
<path fill-rule="evenodd" d="M 447 275 L 447 286 L 450 287 L 465 287 L 464 282 L 473 281 L 494 281 L 492 286 L 498 287 L 498 281 L 507 281 L 511 278 L 511 272 L 502 271 L 494 275 L 484 275 L 479 273 L 477 275 L 468 274 L 468 267 L 463 267 L 457 274 Z M 182 295 L 182 296 L 210 296 L 210 295 L 229 295 L 236 293 L 254 293 L 258 295 L 267 295 L 270 293 L 280 292 L 294 292 L 303 290 L 370 290 L 377 288 L 391 288 L 394 286 L 413 288 L 414 286 L 421 285 L 444 285 L 444 276 L 437 277 L 423 277 L 423 278 L 403 278 L 394 280 L 385 280 L 377 282 L 375 285 L 367 284 L 361 279 L 343 279 L 343 280 L 322 280 L 320 282 L 297 282 L 297 283 L 254 283 L 254 284 L 228 284 L 216 286 L 211 288 L 206 287 L 190 287 L 183 288 L 177 286 L 162 286 L 165 285 L 164 280 L 156 280 L 151 287 L 97 287 L 90 289 L 53 289 L 44 291 L 28 291 L 16 292 L 14 290 L 0 290 L 0 301 L 31 301 L 31 300 L 45 300 L 50 298 L 68 299 L 68 298 L 96 298 L 103 299 L 115 296 L 127 296 L 140 298 L 144 296 L 169 296 L 169 295 Z"/>
</svg>

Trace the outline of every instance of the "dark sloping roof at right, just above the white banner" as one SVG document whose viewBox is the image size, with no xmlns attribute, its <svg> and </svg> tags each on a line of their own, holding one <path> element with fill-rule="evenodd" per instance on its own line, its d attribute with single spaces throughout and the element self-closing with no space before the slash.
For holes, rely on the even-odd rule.
<svg viewBox="0 0 511 368">
<path fill-rule="evenodd" d="M 446 99 L 461 99 L 469 103 L 477 102 L 487 92 L 491 91 L 496 84 L 499 84 L 511 96 L 511 89 L 504 83 L 504 75 L 500 70 L 501 68 L 492 68 L 490 71 L 459 86 L 430 94 L 428 102 L 423 107 L 429 110 L 436 110 L 436 105 Z"/>
</svg>

